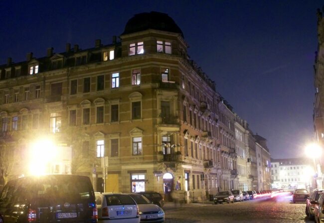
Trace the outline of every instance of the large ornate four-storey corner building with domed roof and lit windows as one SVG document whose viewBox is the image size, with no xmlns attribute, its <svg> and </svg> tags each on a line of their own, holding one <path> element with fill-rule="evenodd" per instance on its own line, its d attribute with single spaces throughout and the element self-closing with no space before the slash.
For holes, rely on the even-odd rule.
<svg viewBox="0 0 324 223">
<path fill-rule="evenodd" d="M 235 160 L 233 126 L 228 149 L 218 149 L 220 96 L 187 47 L 167 14 L 150 12 L 132 17 L 109 45 L 8 58 L 0 66 L 0 140 L 16 160 L 9 178 L 27 174 L 26 152 L 46 136 L 72 148 L 72 162 L 51 172 L 87 175 L 96 191 L 154 190 L 167 199 L 177 189 L 192 202 L 229 188 L 237 174 L 220 159 Z M 216 163 L 226 166 L 222 182 Z"/>
</svg>

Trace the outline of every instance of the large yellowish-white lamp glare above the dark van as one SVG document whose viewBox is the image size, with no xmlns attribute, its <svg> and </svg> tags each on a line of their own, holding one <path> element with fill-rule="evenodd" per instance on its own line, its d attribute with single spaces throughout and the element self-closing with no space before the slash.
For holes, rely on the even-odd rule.
<svg viewBox="0 0 324 223">
<path fill-rule="evenodd" d="M 29 174 L 47 174 L 49 164 L 55 157 L 56 149 L 50 140 L 42 139 L 33 143 L 29 151 Z"/>
</svg>

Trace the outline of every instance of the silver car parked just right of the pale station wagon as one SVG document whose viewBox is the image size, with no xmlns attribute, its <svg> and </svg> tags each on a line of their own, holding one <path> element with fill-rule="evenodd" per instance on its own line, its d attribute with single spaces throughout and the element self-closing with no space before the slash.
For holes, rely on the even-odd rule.
<svg viewBox="0 0 324 223">
<path fill-rule="evenodd" d="M 164 222 L 164 211 L 158 205 L 153 204 L 142 194 L 129 193 L 136 204 L 139 206 L 141 222 L 145 223 L 162 223 Z"/>
</svg>

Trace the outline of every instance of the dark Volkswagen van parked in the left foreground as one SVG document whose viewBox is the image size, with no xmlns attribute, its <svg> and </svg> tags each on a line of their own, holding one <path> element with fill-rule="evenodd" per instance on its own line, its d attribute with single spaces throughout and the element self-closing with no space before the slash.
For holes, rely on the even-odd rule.
<svg viewBox="0 0 324 223">
<path fill-rule="evenodd" d="M 29 176 L 9 181 L 0 195 L 4 223 L 97 223 L 89 177 Z"/>
</svg>

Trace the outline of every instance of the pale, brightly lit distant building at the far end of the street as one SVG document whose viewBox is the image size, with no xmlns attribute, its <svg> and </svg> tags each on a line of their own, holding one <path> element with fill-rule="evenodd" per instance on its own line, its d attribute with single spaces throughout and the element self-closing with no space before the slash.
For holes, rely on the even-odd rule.
<svg viewBox="0 0 324 223">
<path fill-rule="evenodd" d="M 271 159 L 272 188 L 295 189 L 312 187 L 313 166 L 309 159 Z"/>
</svg>

